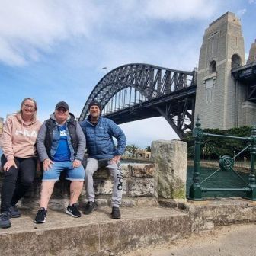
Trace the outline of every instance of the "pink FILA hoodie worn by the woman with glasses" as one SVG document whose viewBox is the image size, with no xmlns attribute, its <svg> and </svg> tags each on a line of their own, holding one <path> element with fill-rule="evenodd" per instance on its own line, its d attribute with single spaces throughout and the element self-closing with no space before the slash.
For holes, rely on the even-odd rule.
<svg viewBox="0 0 256 256">
<path fill-rule="evenodd" d="M 29 158 L 37 155 L 36 139 L 41 123 L 33 120 L 24 123 L 21 114 L 7 117 L 1 136 L 1 146 L 5 157 L 9 159 Z"/>
</svg>

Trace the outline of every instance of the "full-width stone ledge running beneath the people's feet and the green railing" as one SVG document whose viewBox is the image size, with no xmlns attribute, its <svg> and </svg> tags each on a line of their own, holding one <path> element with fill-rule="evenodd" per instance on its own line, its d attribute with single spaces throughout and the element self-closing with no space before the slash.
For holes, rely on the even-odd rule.
<svg viewBox="0 0 256 256">
<path fill-rule="evenodd" d="M 216 225 L 256 221 L 256 203 L 248 200 L 185 201 L 176 208 L 171 208 L 175 201 L 162 203 L 165 207 L 122 207 L 122 219 L 110 219 L 106 206 L 78 219 L 50 210 L 44 224 L 34 224 L 35 210 L 22 210 L 21 218 L 11 219 L 10 229 L 0 229 L 0 251 L 28 256 L 123 255 Z"/>
</svg>

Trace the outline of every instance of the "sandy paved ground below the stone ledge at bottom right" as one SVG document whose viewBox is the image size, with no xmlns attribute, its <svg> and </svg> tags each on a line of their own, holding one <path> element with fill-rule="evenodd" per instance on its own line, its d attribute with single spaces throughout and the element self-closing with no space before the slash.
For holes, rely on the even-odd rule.
<svg viewBox="0 0 256 256">
<path fill-rule="evenodd" d="M 255 256 L 256 226 L 219 226 L 162 245 L 138 249 L 123 256 Z"/>
</svg>

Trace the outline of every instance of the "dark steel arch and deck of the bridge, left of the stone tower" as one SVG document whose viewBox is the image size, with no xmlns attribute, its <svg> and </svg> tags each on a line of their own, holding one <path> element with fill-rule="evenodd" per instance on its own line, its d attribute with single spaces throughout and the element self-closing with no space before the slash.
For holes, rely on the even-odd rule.
<svg viewBox="0 0 256 256">
<path fill-rule="evenodd" d="M 88 116 L 88 104 L 97 100 L 102 114 L 117 124 L 165 117 L 180 138 L 192 130 L 196 72 L 142 63 L 119 66 L 101 78 L 91 91 L 79 120 Z"/>
</svg>

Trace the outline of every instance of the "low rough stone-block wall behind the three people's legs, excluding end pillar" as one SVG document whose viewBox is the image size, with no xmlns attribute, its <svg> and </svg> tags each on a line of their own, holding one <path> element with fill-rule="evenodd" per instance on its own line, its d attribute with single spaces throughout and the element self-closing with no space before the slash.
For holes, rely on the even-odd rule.
<svg viewBox="0 0 256 256">
<path fill-rule="evenodd" d="M 153 206 L 158 204 L 155 170 L 157 170 L 157 165 L 154 163 L 122 165 L 124 176 L 122 206 Z M 0 191 L 3 177 L 4 173 L 0 172 Z M 33 206 L 36 208 L 39 206 L 41 179 L 42 173 L 38 172 L 33 187 L 31 187 L 24 200 L 22 200 L 22 206 Z M 53 195 L 50 199 L 50 207 L 52 209 L 64 208 L 69 203 L 69 184 L 70 181 L 66 181 L 65 175 L 62 174 L 59 181 L 55 184 Z M 99 205 L 110 206 L 112 187 L 112 177 L 107 168 L 95 171 L 94 193 L 96 202 Z M 82 190 L 80 202 L 82 204 L 86 203 L 85 187 Z"/>
</svg>

